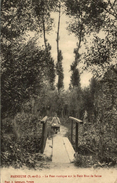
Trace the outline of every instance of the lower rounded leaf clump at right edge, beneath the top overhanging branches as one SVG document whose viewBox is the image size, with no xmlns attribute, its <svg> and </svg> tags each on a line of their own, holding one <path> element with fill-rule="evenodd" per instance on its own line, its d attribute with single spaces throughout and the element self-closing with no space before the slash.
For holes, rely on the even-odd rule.
<svg viewBox="0 0 117 183">
<path fill-rule="evenodd" d="M 82 55 L 83 68 L 90 68 L 95 77 L 102 78 L 109 67 L 116 63 L 117 51 L 114 42 L 116 42 L 116 38 L 112 36 L 109 38 L 106 36 L 105 39 L 94 36 L 92 45 L 86 44 L 87 51 Z"/>
</svg>

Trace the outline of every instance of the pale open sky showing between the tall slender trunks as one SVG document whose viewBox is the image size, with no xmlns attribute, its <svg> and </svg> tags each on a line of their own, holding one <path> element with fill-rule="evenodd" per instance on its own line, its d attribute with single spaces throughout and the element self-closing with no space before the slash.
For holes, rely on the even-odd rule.
<svg viewBox="0 0 117 183">
<path fill-rule="evenodd" d="M 52 56 L 54 60 L 57 60 L 57 23 L 58 23 L 58 13 L 52 13 L 52 18 L 54 18 L 54 28 L 50 31 L 49 35 L 47 36 L 48 42 L 52 46 Z M 60 22 L 60 41 L 59 41 L 59 48 L 62 50 L 63 54 L 63 70 L 64 70 L 64 88 L 65 90 L 68 89 L 70 84 L 70 65 L 74 61 L 74 48 L 76 48 L 76 43 L 78 41 L 77 37 L 74 34 L 70 34 L 68 32 L 67 23 L 69 21 L 69 17 L 66 15 L 61 16 Z M 81 50 L 82 52 L 83 50 Z M 84 72 L 81 75 L 81 86 L 85 87 L 89 85 L 89 80 L 91 79 L 92 74 L 88 72 Z"/>
</svg>

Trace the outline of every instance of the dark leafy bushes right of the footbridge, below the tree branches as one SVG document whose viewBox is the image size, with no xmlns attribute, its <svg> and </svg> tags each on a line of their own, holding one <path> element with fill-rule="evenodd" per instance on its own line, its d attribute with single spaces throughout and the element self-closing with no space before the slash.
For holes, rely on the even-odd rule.
<svg viewBox="0 0 117 183">
<path fill-rule="evenodd" d="M 92 79 L 90 92 L 88 92 L 92 96 L 93 105 L 90 108 L 88 104 L 90 110 L 87 108 L 87 111 L 88 116 L 90 113 L 93 116 L 90 119 L 84 119 L 83 126 L 79 126 L 81 154 L 85 152 L 84 149 L 93 152 L 98 158 L 96 166 L 115 166 L 117 163 L 116 81 L 116 67 L 109 69 L 100 82 Z"/>
</svg>

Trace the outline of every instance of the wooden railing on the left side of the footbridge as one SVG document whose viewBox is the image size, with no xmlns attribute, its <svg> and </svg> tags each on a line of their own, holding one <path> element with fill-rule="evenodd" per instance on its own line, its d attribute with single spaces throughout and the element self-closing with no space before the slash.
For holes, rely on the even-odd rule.
<svg viewBox="0 0 117 183">
<path fill-rule="evenodd" d="M 47 116 L 45 116 L 42 120 L 42 140 L 41 140 L 41 153 L 44 152 L 44 148 L 46 145 L 46 140 L 47 140 Z"/>
</svg>

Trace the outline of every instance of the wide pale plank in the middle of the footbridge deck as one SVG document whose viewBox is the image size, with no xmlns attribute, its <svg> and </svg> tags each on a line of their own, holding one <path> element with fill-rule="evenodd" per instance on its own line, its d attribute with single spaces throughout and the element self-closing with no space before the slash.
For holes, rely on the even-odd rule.
<svg viewBox="0 0 117 183">
<path fill-rule="evenodd" d="M 53 157 L 52 162 L 54 163 L 70 163 L 63 137 L 56 135 L 53 137 Z"/>
</svg>

